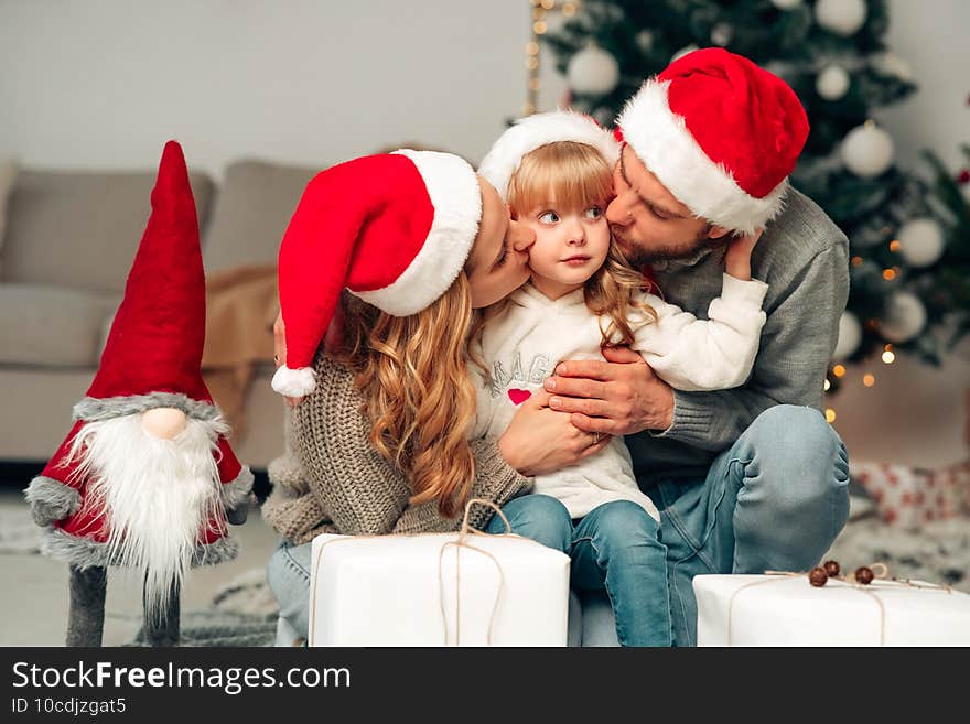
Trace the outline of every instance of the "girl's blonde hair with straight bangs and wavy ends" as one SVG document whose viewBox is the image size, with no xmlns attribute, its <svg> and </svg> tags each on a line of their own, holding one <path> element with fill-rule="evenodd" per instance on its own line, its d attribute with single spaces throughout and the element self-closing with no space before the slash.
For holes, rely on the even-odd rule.
<svg viewBox="0 0 970 724">
<path fill-rule="evenodd" d="M 574 141 L 546 143 L 522 156 L 508 184 L 508 205 L 513 218 L 535 210 L 550 201 L 562 210 L 600 206 L 604 212 L 613 196 L 613 169 L 593 147 Z M 629 345 L 634 342 L 629 325 L 633 310 L 642 310 L 657 318 L 656 311 L 636 299 L 644 288 L 643 274 L 629 266 L 623 252 L 611 241 L 603 266 L 583 288 L 586 307 L 607 317 L 600 326 L 603 344 Z M 477 337 L 491 318 L 503 312 L 507 299 L 488 307 L 474 325 Z"/>
</svg>

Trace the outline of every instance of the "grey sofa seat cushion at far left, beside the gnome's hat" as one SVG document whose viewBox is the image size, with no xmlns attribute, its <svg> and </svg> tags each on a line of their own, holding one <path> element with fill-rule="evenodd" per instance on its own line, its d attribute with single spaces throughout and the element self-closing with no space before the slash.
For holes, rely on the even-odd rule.
<svg viewBox="0 0 970 724">
<path fill-rule="evenodd" d="M 97 367 L 101 325 L 120 296 L 0 284 L 0 364 Z"/>
</svg>

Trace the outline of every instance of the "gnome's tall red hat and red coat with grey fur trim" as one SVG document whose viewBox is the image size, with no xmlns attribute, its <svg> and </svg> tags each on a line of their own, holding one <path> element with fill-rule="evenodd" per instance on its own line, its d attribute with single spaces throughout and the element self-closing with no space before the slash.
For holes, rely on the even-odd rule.
<svg viewBox="0 0 970 724">
<path fill-rule="evenodd" d="M 205 274 L 188 171 L 175 141 L 165 144 L 151 205 L 100 367 L 86 397 L 74 407 L 74 426 L 26 490 L 32 504 L 68 514 L 47 529 L 44 552 L 82 568 L 123 563 L 109 560 L 108 517 L 105 510 L 85 505 L 89 478 L 69 455 L 84 425 L 153 408 L 176 408 L 198 420 L 219 417 L 200 370 Z M 222 435 L 214 455 L 222 501 L 231 510 L 249 498 L 252 474 Z M 200 531 L 195 559 L 217 563 L 235 558 L 236 551 L 220 517 Z"/>
</svg>

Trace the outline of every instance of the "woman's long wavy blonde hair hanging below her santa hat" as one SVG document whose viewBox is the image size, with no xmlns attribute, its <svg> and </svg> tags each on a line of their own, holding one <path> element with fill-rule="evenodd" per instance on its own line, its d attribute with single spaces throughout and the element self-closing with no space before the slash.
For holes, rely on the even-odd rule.
<svg viewBox="0 0 970 724">
<path fill-rule="evenodd" d="M 408 477 L 411 504 L 436 500 L 440 515 L 455 518 L 475 476 L 466 271 L 410 316 L 391 316 L 347 293 L 342 306 L 344 348 L 335 356 L 355 371 L 370 443 Z"/>
</svg>

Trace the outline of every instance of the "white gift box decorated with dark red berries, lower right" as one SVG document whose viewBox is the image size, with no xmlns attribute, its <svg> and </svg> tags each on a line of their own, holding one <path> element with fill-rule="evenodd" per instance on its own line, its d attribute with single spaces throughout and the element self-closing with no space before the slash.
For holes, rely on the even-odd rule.
<svg viewBox="0 0 970 724">
<path fill-rule="evenodd" d="M 920 586 L 929 586 L 919 582 Z M 893 581 L 699 575 L 698 646 L 970 646 L 970 595 Z"/>
</svg>

